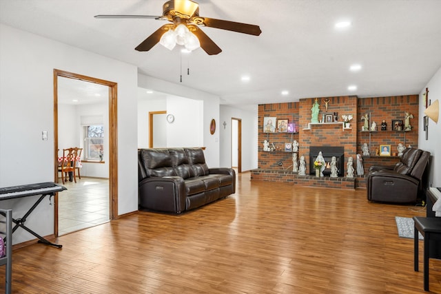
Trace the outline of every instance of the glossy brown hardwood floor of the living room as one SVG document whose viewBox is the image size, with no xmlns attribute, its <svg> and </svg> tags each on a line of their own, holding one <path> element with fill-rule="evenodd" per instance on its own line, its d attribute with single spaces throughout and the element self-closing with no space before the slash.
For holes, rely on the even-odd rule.
<svg viewBox="0 0 441 294">
<path fill-rule="evenodd" d="M 236 194 L 190 213 L 141 211 L 63 235 L 62 249 L 15 250 L 12 289 L 425 293 L 422 271 L 413 271 L 413 239 L 398 237 L 395 216 L 425 211 L 367 202 L 365 190 L 250 182 L 240 174 Z M 431 291 L 441 293 L 441 262 L 431 260 L 430 268 Z"/>
</svg>

